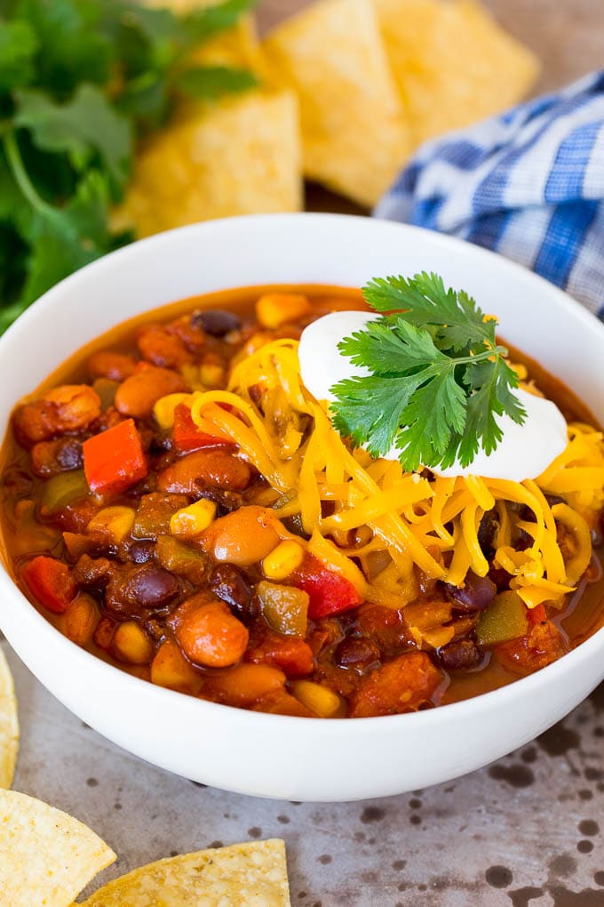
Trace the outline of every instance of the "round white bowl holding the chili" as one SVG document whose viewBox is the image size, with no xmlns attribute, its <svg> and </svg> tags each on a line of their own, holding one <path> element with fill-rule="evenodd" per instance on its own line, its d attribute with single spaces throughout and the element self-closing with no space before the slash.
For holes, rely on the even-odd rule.
<svg viewBox="0 0 604 907">
<path fill-rule="evenodd" d="M 604 422 L 604 327 L 503 258 L 436 233 L 337 215 L 265 215 L 173 230 L 83 268 L 0 340 L 0 424 L 73 351 L 183 297 L 270 283 L 360 286 L 435 270 L 500 317 L 502 335 L 561 377 Z M 604 677 L 604 630 L 548 668 L 455 705 L 320 720 L 219 706 L 132 678 L 78 648 L 0 571 L 0 626 L 54 696 L 130 752 L 207 785 L 295 800 L 354 800 L 484 766 L 566 715 Z"/>
</svg>

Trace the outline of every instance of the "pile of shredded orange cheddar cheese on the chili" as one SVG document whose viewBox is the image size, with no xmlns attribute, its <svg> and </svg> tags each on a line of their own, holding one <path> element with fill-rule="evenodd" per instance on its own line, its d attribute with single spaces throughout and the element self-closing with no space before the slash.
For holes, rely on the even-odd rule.
<svg viewBox="0 0 604 907">
<path fill-rule="evenodd" d="M 417 570 L 458 587 L 469 570 L 485 576 L 486 512 L 494 564 L 529 608 L 561 603 L 589 566 L 590 525 L 604 504 L 604 444 L 590 425 L 570 425 L 568 446 L 534 481 L 406 473 L 350 449 L 302 385 L 290 339 L 240 358 L 228 390 L 196 391 L 191 417 L 239 445 L 271 485 L 276 515 L 297 517 L 308 550 L 365 600 L 405 607 L 417 598 Z M 557 495 L 565 502 L 550 503 Z M 519 533 L 522 551 L 513 546 Z"/>
</svg>

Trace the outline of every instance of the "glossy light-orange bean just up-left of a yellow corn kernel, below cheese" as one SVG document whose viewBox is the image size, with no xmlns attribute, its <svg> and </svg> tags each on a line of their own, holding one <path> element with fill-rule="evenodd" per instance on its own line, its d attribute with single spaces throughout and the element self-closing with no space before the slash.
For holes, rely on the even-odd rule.
<svg viewBox="0 0 604 907">
<path fill-rule="evenodd" d="M 273 511 L 254 504 L 215 520 L 198 541 L 216 561 L 249 567 L 262 561 L 279 544 L 280 528 Z"/>
</svg>

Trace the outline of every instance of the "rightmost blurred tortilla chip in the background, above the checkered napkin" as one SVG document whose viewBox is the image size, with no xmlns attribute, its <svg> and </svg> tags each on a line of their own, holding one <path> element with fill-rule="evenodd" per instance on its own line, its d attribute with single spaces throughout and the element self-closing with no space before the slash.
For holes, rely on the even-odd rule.
<svg viewBox="0 0 604 907">
<path fill-rule="evenodd" d="M 475 0 L 373 0 L 414 146 L 522 100 L 537 58 Z"/>
</svg>

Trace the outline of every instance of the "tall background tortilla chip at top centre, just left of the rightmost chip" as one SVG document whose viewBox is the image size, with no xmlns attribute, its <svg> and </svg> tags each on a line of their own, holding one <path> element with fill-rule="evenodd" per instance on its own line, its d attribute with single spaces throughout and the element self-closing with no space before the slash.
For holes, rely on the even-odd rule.
<svg viewBox="0 0 604 907">
<path fill-rule="evenodd" d="M 273 83 L 298 93 L 306 175 L 372 205 L 404 163 L 409 135 L 369 0 L 320 0 L 263 48 Z"/>
</svg>

